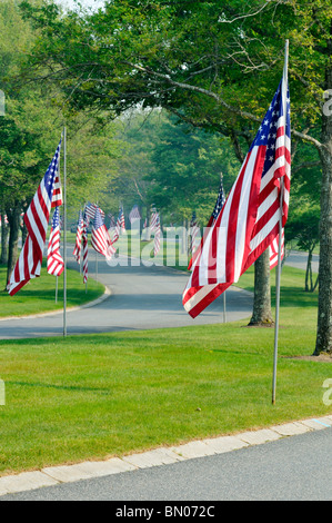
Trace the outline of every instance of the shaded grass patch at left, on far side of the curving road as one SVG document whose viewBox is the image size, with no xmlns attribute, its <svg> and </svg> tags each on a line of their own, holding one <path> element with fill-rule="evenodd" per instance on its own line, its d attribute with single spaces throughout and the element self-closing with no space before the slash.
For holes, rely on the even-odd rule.
<svg viewBox="0 0 332 523">
<path fill-rule="evenodd" d="M 49 275 L 43 262 L 40 278 L 31 279 L 14 296 L 4 290 L 7 268 L 0 266 L 0 317 L 24 316 L 58 310 L 63 307 L 63 275 L 58 278 L 58 303 L 56 304 L 56 277 Z M 77 270 L 67 270 L 68 308 L 92 302 L 104 292 L 104 286 L 92 278 L 88 279 L 87 293 L 83 277 Z"/>
</svg>

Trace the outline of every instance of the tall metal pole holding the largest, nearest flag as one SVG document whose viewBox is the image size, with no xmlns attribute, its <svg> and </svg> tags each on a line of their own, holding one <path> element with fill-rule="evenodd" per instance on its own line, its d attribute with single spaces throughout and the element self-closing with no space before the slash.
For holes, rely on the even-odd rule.
<svg viewBox="0 0 332 523">
<path fill-rule="evenodd" d="M 283 85 L 288 86 L 288 63 L 289 63 L 289 40 L 285 40 Z M 286 122 L 286 100 L 283 97 L 284 128 Z M 285 132 L 285 129 L 284 129 Z M 283 177 L 280 179 L 280 218 L 279 218 L 279 246 L 278 266 L 275 270 L 275 327 L 274 327 L 274 352 L 273 352 L 273 379 L 272 379 L 272 405 L 275 404 L 276 389 L 276 363 L 278 363 L 278 335 L 279 335 L 279 313 L 280 313 L 280 279 L 281 279 L 281 248 L 282 248 L 282 210 L 283 210 Z"/>
</svg>

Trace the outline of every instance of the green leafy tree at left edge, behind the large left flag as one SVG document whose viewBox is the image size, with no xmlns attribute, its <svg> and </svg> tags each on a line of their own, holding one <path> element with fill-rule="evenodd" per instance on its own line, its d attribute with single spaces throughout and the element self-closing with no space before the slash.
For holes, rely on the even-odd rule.
<svg viewBox="0 0 332 523">
<path fill-rule="evenodd" d="M 23 21 L 13 1 L 0 4 L 1 89 L 6 115 L 0 118 L 0 201 L 9 221 L 9 248 L 2 226 L 2 262 L 7 282 L 18 258 L 21 214 L 27 210 L 60 140 L 68 119 L 68 204 L 76 207 L 105 187 L 117 157 L 118 140 L 111 126 L 97 126 L 95 118 L 66 110 L 64 101 L 41 85 L 17 85 L 22 61 L 38 33 Z M 61 102 L 61 107 L 59 103 Z M 4 221 L 4 220 L 2 220 Z"/>
</svg>

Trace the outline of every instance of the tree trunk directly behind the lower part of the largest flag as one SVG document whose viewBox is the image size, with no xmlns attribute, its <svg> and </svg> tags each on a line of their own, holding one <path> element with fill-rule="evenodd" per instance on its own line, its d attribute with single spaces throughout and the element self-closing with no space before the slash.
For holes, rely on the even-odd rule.
<svg viewBox="0 0 332 523">
<path fill-rule="evenodd" d="M 266 249 L 254 263 L 254 298 L 249 325 L 272 325 L 270 253 Z"/>
</svg>

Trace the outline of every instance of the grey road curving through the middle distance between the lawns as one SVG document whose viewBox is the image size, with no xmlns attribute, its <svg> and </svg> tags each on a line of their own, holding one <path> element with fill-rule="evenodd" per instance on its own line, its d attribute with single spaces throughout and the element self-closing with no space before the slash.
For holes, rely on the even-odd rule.
<svg viewBox="0 0 332 523">
<path fill-rule="evenodd" d="M 68 266 L 77 268 L 72 248 L 68 249 Z M 123 262 L 123 260 L 122 260 Z M 104 257 L 98 256 L 98 279 L 108 286 L 111 296 L 101 304 L 68 312 L 67 332 L 93 334 L 115 330 L 134 330 L 160 327 L 181 327 L 223 322 L 223 299 L 217 299 L 207 312 L 192 319 L 182 307 L 182 292 L 188 275 L 162 266 L 138 266 L 138 260 L 129 260 L 129 266 L 110 267 Z M 95 275 L 95 255 L 89 260 L 91 277 Z M 83 285 L 83 284 L 82 284 Z M 227 320 L 250 317 L 252 295 L 235 287 L 227 292 Z M 61 336 L 63 314 L 42 318 L 9 319 L 0 322 L 0 338 L 27 338 Z"/>
</svg>

